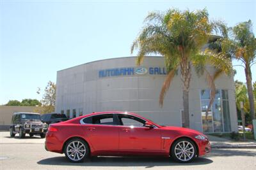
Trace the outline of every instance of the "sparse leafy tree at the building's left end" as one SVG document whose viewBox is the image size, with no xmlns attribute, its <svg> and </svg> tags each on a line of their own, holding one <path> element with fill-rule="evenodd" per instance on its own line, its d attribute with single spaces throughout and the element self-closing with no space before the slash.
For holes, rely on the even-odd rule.
<svg viewBox="0 0 256 170">
<path fill-rule="evenodd" d="M 37 92 L 40 93 L 40 90 Z M 44 90 L 44 96 L 42 98 L 42 113 L 51 113 L 54 111 L 56 101 L 56 85 L 54 82 L 49 81 Z"/>
</svg>

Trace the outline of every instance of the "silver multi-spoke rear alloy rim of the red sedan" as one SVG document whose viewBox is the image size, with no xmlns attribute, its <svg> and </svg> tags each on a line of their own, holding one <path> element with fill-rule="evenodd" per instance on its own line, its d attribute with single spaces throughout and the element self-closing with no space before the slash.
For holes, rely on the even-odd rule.
<svg viewBox="0 0 256 170">
<path fill-rule="evenodd" d="M 84 158 L 86 147 L 81 141 L 71 141 L 67 146 L 67 156 L 70 160 L 79 161 Z"/>
</svg>

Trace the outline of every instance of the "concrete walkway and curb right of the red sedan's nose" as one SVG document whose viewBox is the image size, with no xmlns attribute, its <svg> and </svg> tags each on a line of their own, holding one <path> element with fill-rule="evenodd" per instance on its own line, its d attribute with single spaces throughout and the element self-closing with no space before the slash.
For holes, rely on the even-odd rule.
<svg viewBox="0 0 256 170">
<path fill-rule="evenodd" d="M 207 135 L 210 139 L 212 148 L 256 148 L 256 141 L 232 141 L 228 138 Z"/>
</svg>

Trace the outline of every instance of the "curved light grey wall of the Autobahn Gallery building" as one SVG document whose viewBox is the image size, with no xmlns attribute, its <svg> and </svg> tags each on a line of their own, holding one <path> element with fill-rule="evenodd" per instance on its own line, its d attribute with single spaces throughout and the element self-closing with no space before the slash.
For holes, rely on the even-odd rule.
<svg viewBox="0 0 256 170">
<path fill-rule="evenodd" d="M 99 70 L 136 67 L 135 57 L 99 60 L 58 71 L 56 111 L 83 108 L 83 114 L 97 111 L 131 111 L 147 117 L 160 125 L 181 126 L 182 82 L 180 73 L 174 77 L 159 106 L 159 94 L 165 75 L 109 76 L 99 78 Z M 163 57 L 145 57 L 143 67 L 164 67 Z M 209 67 L 211 73 L 213 67 Z M 189 91 L 189 113 L 192 129 L 202 131 L 200 90 L 209 89 L 205 76 L 198 77 L 193 70 Z M 216 89 L 228 90 L 232 131 L 237 131 L 234 80 L 221 75 Z"/>
</svg>

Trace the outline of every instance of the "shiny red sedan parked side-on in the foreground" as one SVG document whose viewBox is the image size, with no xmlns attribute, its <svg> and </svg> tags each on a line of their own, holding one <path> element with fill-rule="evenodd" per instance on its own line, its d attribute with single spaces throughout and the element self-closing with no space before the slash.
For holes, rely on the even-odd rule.
<svg viewBox="0 0 256 170">
<path fill-rule="evenodd" d="M 70 162 L 90 156 L 163 156 L 190 162 L 211 151 L 207 136 L 182 127 L 164 127 L 127 112 L 101 112 L 51 124 L 45 149 Z"/>
</svg>

